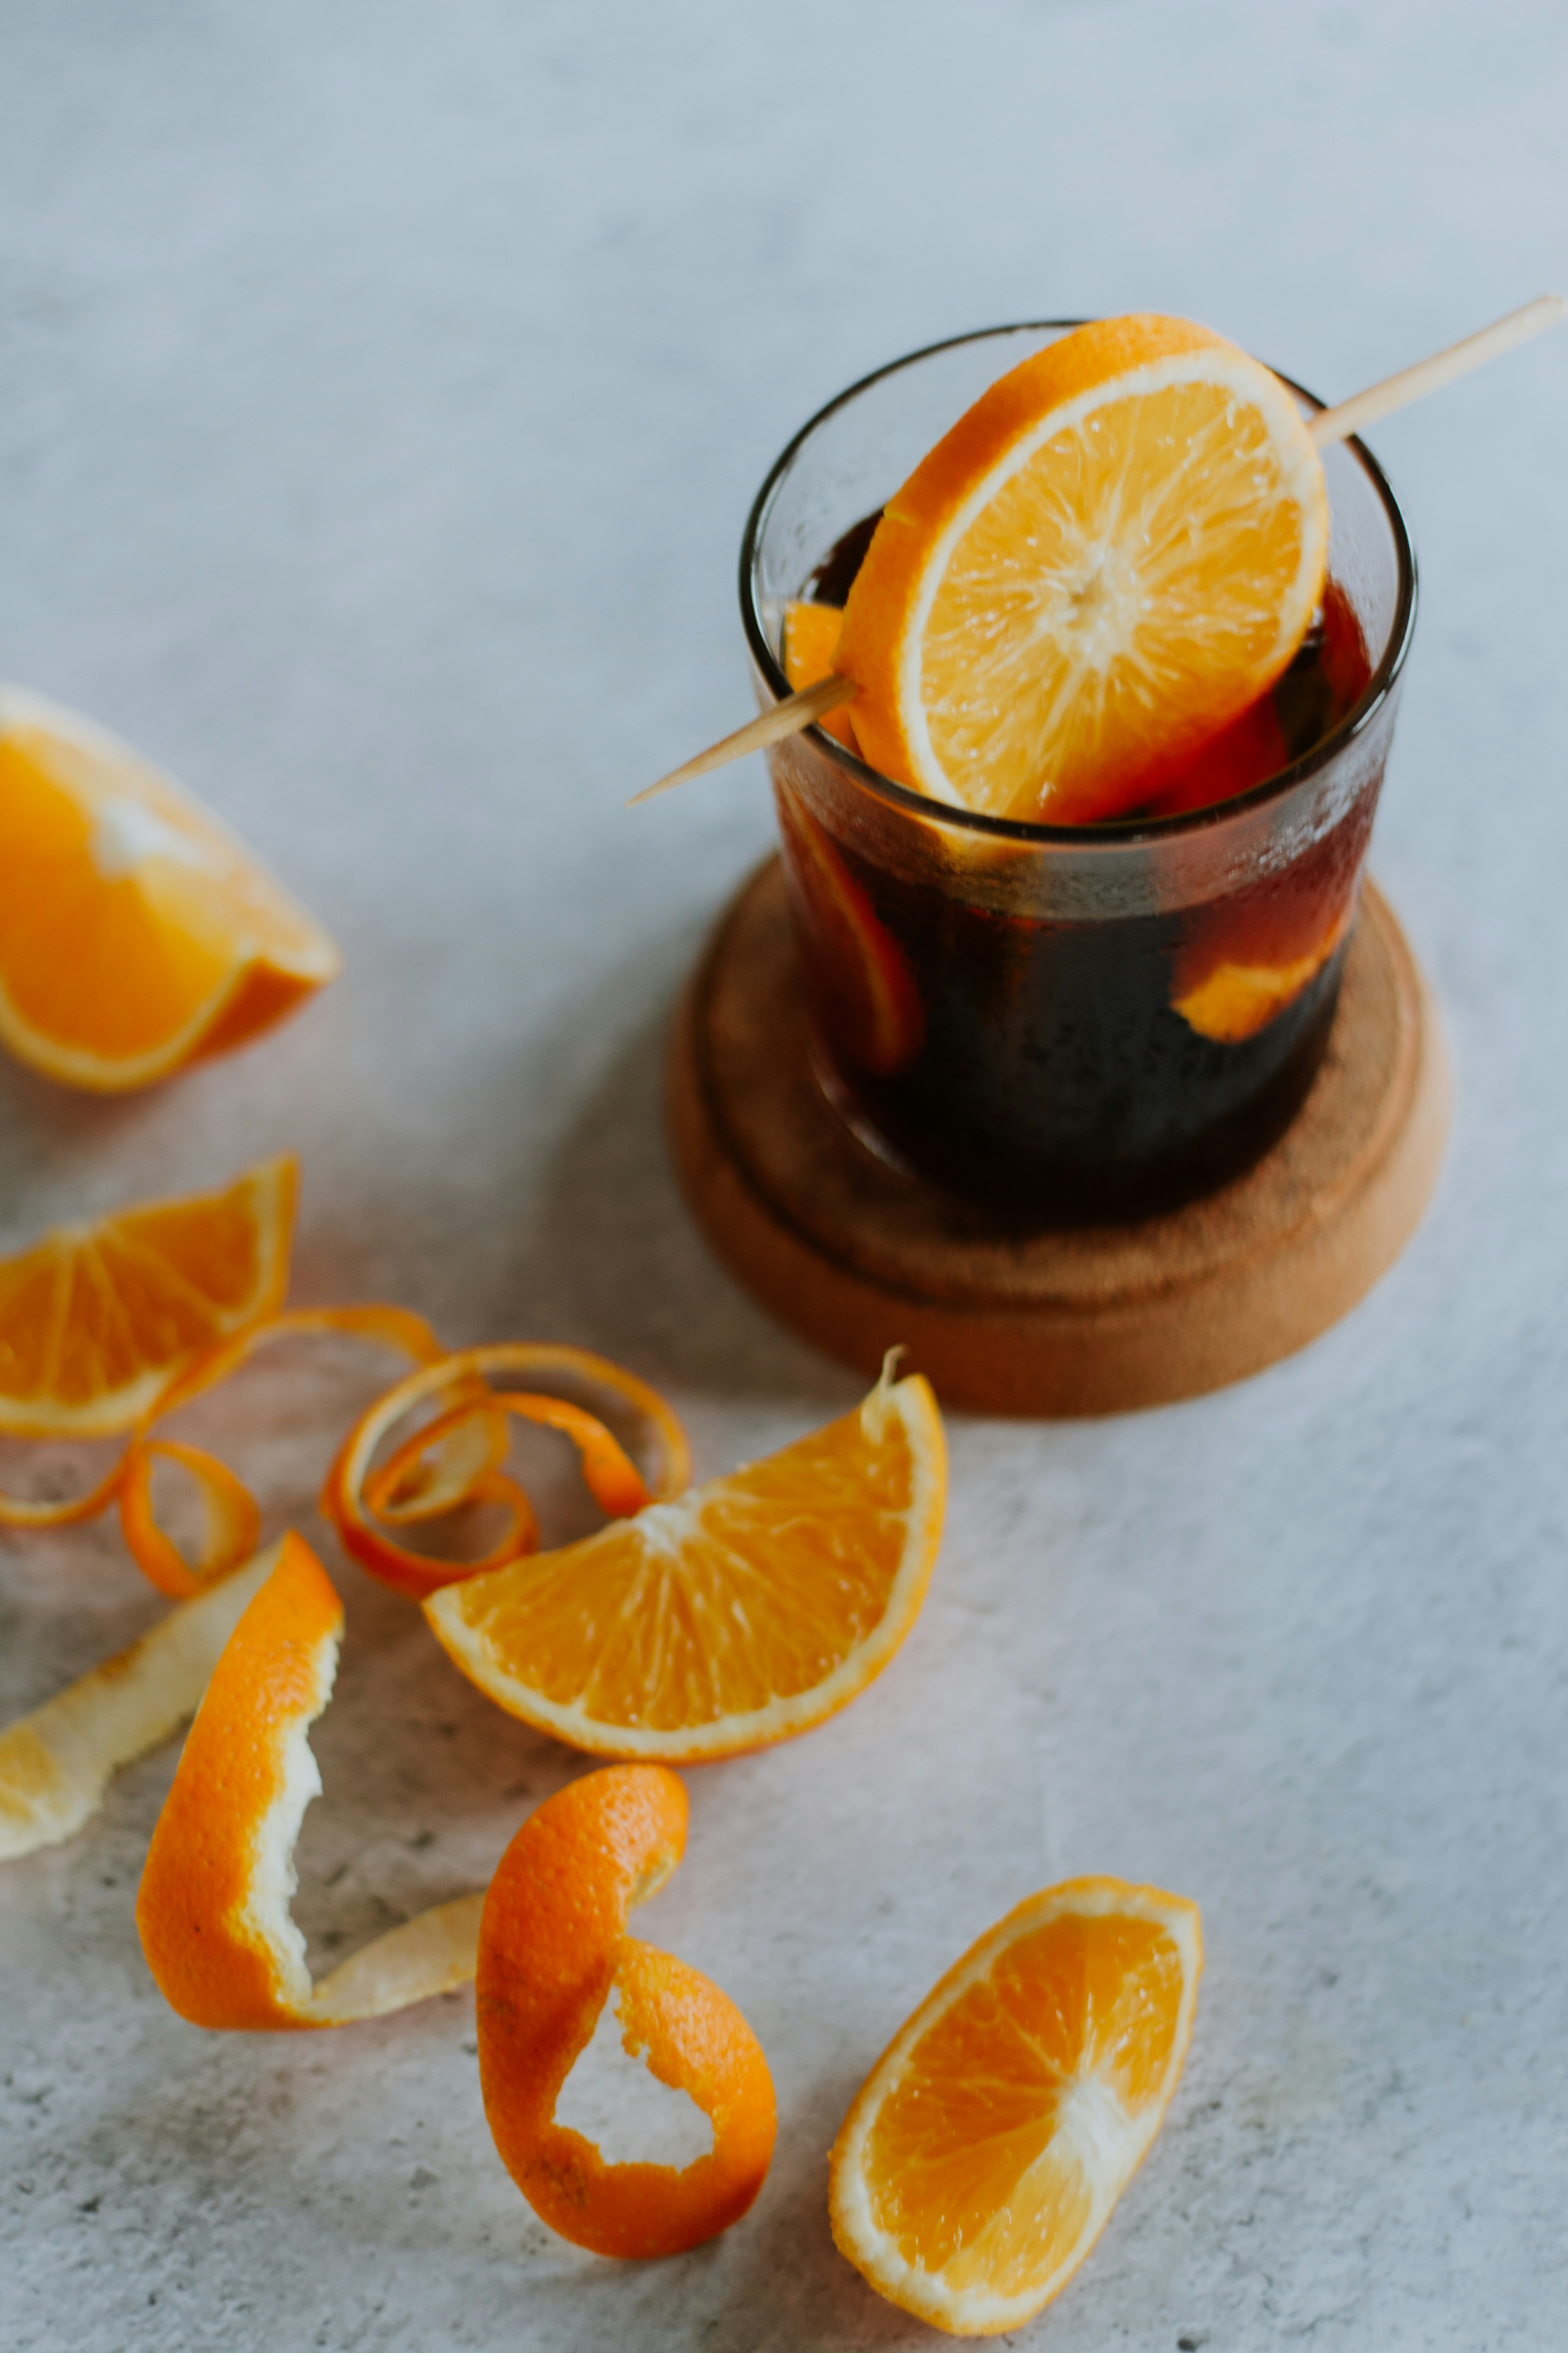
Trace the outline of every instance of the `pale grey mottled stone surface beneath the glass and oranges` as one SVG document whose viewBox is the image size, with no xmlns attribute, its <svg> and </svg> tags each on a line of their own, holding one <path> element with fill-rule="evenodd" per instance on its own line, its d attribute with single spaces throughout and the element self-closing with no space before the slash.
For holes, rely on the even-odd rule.
<svg viewBox="0 0 1568 2353">
<path fill-rule="evenodd" d="M 209 795 L 348 953 L 162 1092 L 0 1071 L 0 1245 L 296 1146 L 301 1297 L 614 1351 L 705 1471 L 853 1393 L 710 1264 L 658 1134 L 762 779 L 621 814 L 745 715 L 773 452 L 999 318 L 1190 311 L 1340 395 L 1568 275 L 1547 0 L 9 0 L 0 82 L 0 668 Z M 181 2026 L 132 1925 L 167 1751 L 0 1889 L 7 2353 L 931 2341 L 832 2252 L 825 2151 L 938 1969 L 1072 1871 L 1199 1897 L 1211 1960 L 1041 2344 L 1561 2341 L 1566 393 L 1561 334 L 1373 435 L 1425 579 L 1375 864 L 1460 1082 L 1418 1242 L 1229 1395 L 959 1421 L 893 1671 L 689 1777 L 646 1934 L 771 2054 L 752 2217 L 651 2268 L 555 2242 L 468 1998 Z M 327 1546 L 371 1379 L 280 1358 L 207 1424 L 348 1598 L 322 1955 L 480 1882 L 574 1769 Z M 153 1617 L 113 1532 L 12 1546 L 0 1713 Z"/>
</svg>

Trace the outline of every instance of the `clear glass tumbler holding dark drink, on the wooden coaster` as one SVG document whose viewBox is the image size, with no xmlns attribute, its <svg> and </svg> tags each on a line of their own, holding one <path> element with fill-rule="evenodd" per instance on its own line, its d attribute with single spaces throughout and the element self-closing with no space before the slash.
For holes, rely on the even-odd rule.
<svg viewBox="0 0 1568 2353">
<path fill-rule="evenodd" d="M 797 433 L 741 546 L 762 704 L 790 692 L 788 605 L 842 605 L 884 499 L 1072 325 L 917 351 Z M 1025 1224 L 1124 1219 L 1225 1181 L 1288 1125 L 1328 1042 L 1415 626 L 1382 471 L 1354 440 L 1324 468 L 1328 591 L 1274 689 L 1286 765 L 1267 781 L 1037 826 L 905 791 L 820 727 L 769 751 L 816 1071 L 884 1158 Z"/>
</svg>

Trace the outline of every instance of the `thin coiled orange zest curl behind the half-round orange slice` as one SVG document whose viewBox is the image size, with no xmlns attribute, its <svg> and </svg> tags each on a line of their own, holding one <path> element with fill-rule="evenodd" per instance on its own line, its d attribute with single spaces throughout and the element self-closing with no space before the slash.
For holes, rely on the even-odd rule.
<svg viewBox="0 0 1568 2353">
<path fill-rule="evenodd" d="M 501 1372 L 520 1372 L 534 1379 L 578 1379 L 621 1398 L 658 1433 L 661 1466 L 654 1485 L 644 1482 L 621 1442 L 581 1405 L 569 1405 L 564 1398 L 541 1398 L 529 1391 L 489 1388 L 487 1377 Z M 444 1391 L 456 1391 L 463 1402 L 414 1431 L 386 1464 L 371 1471 L 371 1457 L 393 1424 Z M 322 1487 L 322 1511 L 336 1527 L 343 1551 L 360 1567 L 369 1569 L 371 1577 L 395 1586 L 400 1593 L 409 1593 L 414 1600 L 425 1600 L 430 1593 L 440 1593 L 442 1586 L 477 1577 L 484 1569 L 505 1567 L 538 1548 L 538 1527 L 527 1497 L 510 1480 L 503 1482 L 505 1492 L 501 1492 L 494 1466 L 487 1466 L 482 1478 L 470 1482 L 454 1478 L 451 1464 L 442 1466 L 440 1459 L 435 1468 L 428 1468 L 430 1452 L 449 1449 L 461 1426 L 477 1419 L 477 1409 L 470 1402 L 475 1395 L 484 1400 L 480 1412 L 487 1417 L 517 1414 L 524 1421 L 538 1421 L 571 1438 L 583 1459 L 588 1492 L 611 1520 L 632 1518 L 632 1513 L 651 1501 L 668 1501 L 691 1480 L 691 1447 L 677 1417 L 656 1388 L 649 1388 L 637 1374 L 623 1372 L 621 1365 L 611 1365 L 609 1358 L 592 1355 L 588 1348 L 559 1348 L 543 1341 L 498 1341 L 487 1348 L 458 1348 L 456 1355 L 442 1355 L 440 1362 L 423 1365 L 397 1381 L 395 1388 L 388 1388 L 360 1417 L 343 1440 Z M 484 1499 L 508 1501 L 512 1506 L 512 1527 L 482 1560 L 458 1565 L 428 1560 L 423 1553 L 411 1553 L 407 1546 L 383 1537 L 371 1525 L 374 1518 L 393 1522 L 418 1520 L 430 1518 L 435 1511 L 451 1511 L 461 1501 Z"/>
</svg>

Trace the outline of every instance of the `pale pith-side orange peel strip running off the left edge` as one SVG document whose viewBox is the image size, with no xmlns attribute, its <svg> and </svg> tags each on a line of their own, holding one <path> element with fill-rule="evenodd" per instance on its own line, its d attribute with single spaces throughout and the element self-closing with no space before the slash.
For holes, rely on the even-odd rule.
<svg viewBox="0 0 1568 2353">
<path fill-rule="evenodd" d="M 179 1729 L 275 1560 L 273 1546 L 0 1732 L 0 1861 L 75 1838 L 110 1774 Z"/>
</svg>

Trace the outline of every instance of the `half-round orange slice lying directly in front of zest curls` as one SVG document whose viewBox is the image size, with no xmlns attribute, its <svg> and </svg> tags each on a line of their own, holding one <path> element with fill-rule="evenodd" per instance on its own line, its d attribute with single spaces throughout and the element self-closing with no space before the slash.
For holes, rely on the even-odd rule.
<svg viewBox="0 0 1568 2353">
<path fill-rule="evenodd" d="M 482 1692 L 574 1748 L 736 1755 L 882 1673 L 926 1595 L 945 1497 L 936 1398 L 884 1372 L 780 1454 L 444 1586 L 425 1617 Z"/>
</svg>

